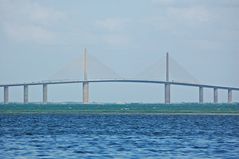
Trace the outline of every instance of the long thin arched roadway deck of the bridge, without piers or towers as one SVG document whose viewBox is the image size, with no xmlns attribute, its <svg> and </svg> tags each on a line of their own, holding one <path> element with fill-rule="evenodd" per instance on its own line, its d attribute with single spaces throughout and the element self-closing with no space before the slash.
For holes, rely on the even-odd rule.
<svg viewBox="0 0 239 159">
<path fill-rule="evenodd" d="M 42 81 L 42 82 L 29 82 L 29 83 L 15 83 L 15 84 L 2 84 L 0 87 L 5 86 L 24 86 L 24 85 L 43 85 L 43 84 L 70 84 L 70 83 L 112 83 L 112 82 L 123 82 L 123 83 L 151 83 L 151 84 L 171 84 L 171 85 L 181 85 L 181 86 L 192 86 L 192 87 L 205 87 L 205 88 L 218 88 L 218 89 L 230 89 L 239 91 L 237 87 L 225 87 L 218 85 L 208 85 L 208 84 L 195 84 L 186 82 L 167 82 L 167 81 L 157 81 L 157 80 L 134 80 L 134 79 L 100 79 L 100 80 L 64 80 L 64 81 Z"/>
</svg>

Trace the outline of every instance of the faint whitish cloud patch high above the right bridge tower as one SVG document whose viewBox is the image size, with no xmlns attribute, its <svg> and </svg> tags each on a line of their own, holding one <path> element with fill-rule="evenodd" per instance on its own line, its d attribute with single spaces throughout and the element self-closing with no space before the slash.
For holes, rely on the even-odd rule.
<svg viewBox="0 0 239 159">
<path fill-rule="evenodd" d="M 155 0 L 154 3 L 164 4 L 166 6 L 155 6 L 154 14 L 145 17 L 142 23 L 151 26 L 157 31 L 167 31 L 168 33 L 182 32 L 188 29 L 198 29 L 212 22 L 215 15 L 204 6 L 190 5 L 182 7 L 175 5 L 173 0 L 162 1 Z"/>
</svg>

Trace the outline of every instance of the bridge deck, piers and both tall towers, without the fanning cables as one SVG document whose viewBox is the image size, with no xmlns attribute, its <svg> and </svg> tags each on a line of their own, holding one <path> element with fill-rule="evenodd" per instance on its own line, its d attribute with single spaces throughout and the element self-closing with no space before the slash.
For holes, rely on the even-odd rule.
<svg viewBox="0 0 239 159">
<path fill-rule="evenodd" d="M 81 83 L 83 85 L 83 103 L 89 103 L 89 84 L 90 83 L 142 83 L 142 84 L 162 84 L 165 86 L 164 88 L 164 102 L 166 104 L 170 103 L 170 87 L 172 85 L 179 86 L 189 86 L 189 87 L 198 87 L 199 89 L 199 103 L 203 103 L 203 89 L 204 88 L 212 88 L 213 89 L 213 101 L 214 103 L 218 103 L 218 90 L 228 90 L 228 103 L 232 102 L 232 91 L 239 91 L 237 87 L 226 87 L 219 85 L 209 85 L 209 84 L 197 84 L 197 83 L 187 83 L 187 82 L 174 82 L 169 81 L 169 56 L 167 53 L 166 56 L 166 80 L 139 80 L 139 79 L 94 79 L 88 80 L 87 78 L 87 53 L 86 49 L 84 51 L 84 80 L 51 80 L 51 81 L 40 81 L 40 82 L 28 82 L 28 83 L 12 83 L 12 84 L 0 84 L 0 87 L 4 88 L 4 103 L 7 104 L 9 102 L 9 87 L 23 87 L 23 102 L 28 103 L 29 95 L 28 95 L 28 87 L 33 85 L 42 85 L 42 102 L 47 103 L 48 85 L 57 85 L 57 84 L 72 84 L 72 83 Z"/>
</svg>

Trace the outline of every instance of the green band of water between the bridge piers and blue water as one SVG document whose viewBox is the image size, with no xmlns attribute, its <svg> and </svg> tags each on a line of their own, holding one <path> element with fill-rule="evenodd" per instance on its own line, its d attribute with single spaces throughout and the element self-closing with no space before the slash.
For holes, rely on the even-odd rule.
<svg viewBox="0 0 239 159">
<path fill-rule="evenodd" d="M 239 115 L 239 104 L 0 104 L 3 114 Z"/>
</svg>

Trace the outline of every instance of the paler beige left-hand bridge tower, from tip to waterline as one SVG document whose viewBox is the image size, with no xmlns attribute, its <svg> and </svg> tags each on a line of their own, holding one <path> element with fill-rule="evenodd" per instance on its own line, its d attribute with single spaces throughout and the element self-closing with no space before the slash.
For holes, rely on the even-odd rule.
<svg viewBox="0 0 239 159">
<path fill-rule="evenodd" d="M 84 49 L 84 82 L 83 82 L 83 104 L 87 104 L 89 102 L 89 82 L 87 77 L 88 72 L 88 61 L 87 61 L 87 50 Z"/>
</svg>

